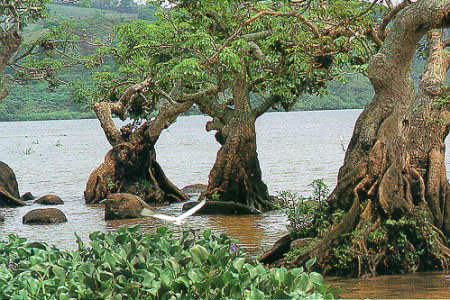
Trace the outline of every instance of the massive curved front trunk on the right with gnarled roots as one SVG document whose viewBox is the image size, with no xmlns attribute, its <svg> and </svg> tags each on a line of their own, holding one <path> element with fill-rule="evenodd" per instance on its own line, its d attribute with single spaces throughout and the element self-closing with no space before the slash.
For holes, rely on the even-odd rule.
<svg viewBox="0 0 450 300">
<path fill-rule="evenodd" d="M 433 224 L 429 218 L 431 214 L 436 220 L 431 204 L 435 200 L 421 197 L 428 193 L 424 176 L 431 179 L 433 188 L 435 177 L 430 174 L 436 169 L 428 162 L 425 169 L 429 172 L 421 174 L 417 170 L 420 155 L 412 155 L 417 144 L 427 142 L 423 138 L 426 129 L 411 127 L 415 91 L 409 70 L 422 36 L 429 29 L 448 26 L 449 13 L 450 1 L 423 0 L 405 8 L 394 20 L 369 64 L 374 99 L 356 122 L 337 186 L 329 197 L 331 212 L 343 211 L 343 217 L 289 263 L 304 263 L 315 256 L 324 272 L 333 273 L 336 262 L 342 261 L 338 251 L 345 251 L 352 257 L 346 267 L 359 276 L 448 266 L 446 237 L 439 222 Z M 415 130 L 420 143 L 410 140 Z M 344 243 L 348 248 L 341 247 Z M 420 261 L 399 264 L 394 258 L 404 252 L 417 254 Z"/>
</svg>

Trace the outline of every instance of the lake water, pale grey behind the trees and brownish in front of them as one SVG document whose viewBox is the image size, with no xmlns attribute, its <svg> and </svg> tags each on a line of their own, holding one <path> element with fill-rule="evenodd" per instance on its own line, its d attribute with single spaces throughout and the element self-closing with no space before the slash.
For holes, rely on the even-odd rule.
<svg viewBox="0 0 450 300">
<path fill-rule="evenodd" d="M 360 112 L 269 113 L 259 118 L 258 154 L 270 192 L 292 190 L 307 195 L 311 192 L 309 183 L 317 178 L 333 188 L 344 159 L 339 134 L 349 142 Z M 159 163 L 180 188 L 208 181 L 219 145 L 214 134 L 205 131 L 207 120 L 204 116 L 180 117 L 157 143 Z M 0 161 L 15 171 L 21 194 L 59 195 L 65 204 L 58 208 L 68 218 L 67 223 L 58 225 L 23 225 L 22 217 L 40 205 L 0 209 L 5 217 L 0 223 L 0 238 L 17 233 L 33 241 L 75 248 L 75 232 L 87 240 L 92 231 L 141 224 L 142 231 L 147 232 L 160 226 L 162 223 L 152 218 L 105 221 L 102 206 L 85 205 L 83 190 L 89 174 L 103 162 L 109 149 L 97 120 L 0 123 Z M 448 159 L 446 162 L 450 166 Z M 158 211 L 178 214 L 180 210 L 181 204 L 175 204 Z M 188 226 L 225 233 L 238 239 L 250 254 L 258 255 L 286 232 L 286 222 L 282 213 L 269 212 L 250 217 L 195 216 Z M 450 298 L 448 276 L 441 272 L 339 282 L 344 285 L 345 297 Z M 392 284 L 396 280 L 398 284 Z"/>
</svg>

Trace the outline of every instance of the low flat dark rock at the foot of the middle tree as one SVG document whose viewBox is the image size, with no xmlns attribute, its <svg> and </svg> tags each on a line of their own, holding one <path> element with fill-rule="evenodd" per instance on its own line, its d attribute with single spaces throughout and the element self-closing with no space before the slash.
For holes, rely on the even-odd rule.
<svg viewBox="0 0 450 300">
<path fill-rule="evenodd" d="M 198 202 L 187 202 L 183 205 L 183 211 L 191 209 Z M 205 205 L 200 208 L 196 214 L 199 215 L 257 215 L 261 211 L 248 205 L 236 202 L 225 201 L 206 201 Z"/>
</svg>

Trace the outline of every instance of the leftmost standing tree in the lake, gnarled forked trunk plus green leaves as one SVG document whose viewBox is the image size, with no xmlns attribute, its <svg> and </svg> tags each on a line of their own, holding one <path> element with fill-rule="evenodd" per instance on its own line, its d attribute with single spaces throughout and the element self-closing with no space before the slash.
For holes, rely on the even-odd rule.
<svg viewBox="0 0 450 300">
<path fill-rule="evenodd" d="M 148 203 L 182 201 L 188 197 L 165 176 L 156 160 L 155 144 L 162 131 L 190 109 L 194 100 L 207 97 L 216 89 L 177 91 L 171 95 L 163 92 L 155 84 L 160 71 L 148 67 L 155 60 L 149 60 L 146 52 L 130 51 L 130 47 L 140 47 L 135 39 L 146 32 L 129 31 L 128 26 L 118 26 L 112 43 L 98 47 L 94 54 L 98 65 L 87 65 L 92 68 L 95 85 L 72 86 L 76 96 L 92 106 L 113 147 L 104 163 L 91 173 L 85 200 L 96 203 L 120 192 L 138 195 Z M 160 55 L 156 61 L 166 63 L 163 53 Z M 113 115 L 129 123 L 119 129 Z"/>
</svg>

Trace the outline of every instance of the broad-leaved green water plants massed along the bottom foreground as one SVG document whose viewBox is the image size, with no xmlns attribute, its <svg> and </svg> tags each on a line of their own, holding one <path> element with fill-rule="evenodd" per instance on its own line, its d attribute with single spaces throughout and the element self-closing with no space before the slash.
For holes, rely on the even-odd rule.
<svg viewBox="0 0 450 300">
<path fill-rule="evenodd" d="M 303 268 L 267 268 L 243 257 L 234 241 L 205 231 L 174 238 L 165 227 L 77 236 L 78 250 L 0 242 L 1 299 L 333 298 L 336 289 Z M 307 263 L 307 269 L 314 260 Z"/>
</svg>

